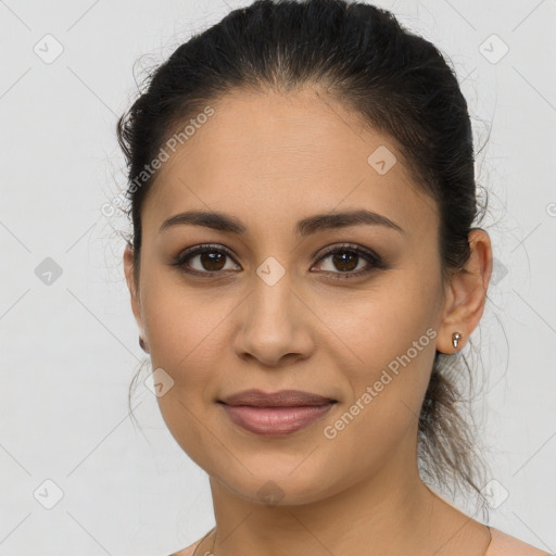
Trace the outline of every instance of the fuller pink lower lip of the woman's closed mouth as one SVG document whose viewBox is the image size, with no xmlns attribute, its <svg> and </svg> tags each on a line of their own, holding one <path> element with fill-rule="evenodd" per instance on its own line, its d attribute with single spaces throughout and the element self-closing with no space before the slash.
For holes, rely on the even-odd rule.
<svg viewBox="0 0 556 556">
<path fill-rule="evenodd" d="M 333 403 L 300 407 L 220 405 L 230 420 L 242 429 L 264 437 L 285 437 L 315 422 L 330 410 Z"/>
</svg>

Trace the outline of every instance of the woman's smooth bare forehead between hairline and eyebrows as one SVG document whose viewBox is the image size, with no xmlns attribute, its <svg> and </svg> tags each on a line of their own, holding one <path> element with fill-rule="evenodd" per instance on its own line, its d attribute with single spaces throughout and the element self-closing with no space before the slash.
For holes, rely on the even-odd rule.
<svg viewBox="0 0 556 556">
<path fill-rule="evenodd" d="M 214 115 L 159 170 L 143 229 L 191 208 L 231 212 L 249 228 L 348 207 L 435 229 L 435 205 L 395 141 L 323 92 L 241 91 L 207 104 Z"/>
</svg>

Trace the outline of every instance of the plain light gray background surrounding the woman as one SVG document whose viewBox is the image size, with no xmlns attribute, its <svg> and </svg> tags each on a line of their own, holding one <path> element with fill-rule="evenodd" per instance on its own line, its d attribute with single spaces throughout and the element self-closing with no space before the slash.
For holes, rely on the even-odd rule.
<svg viewBox="0 0 556 556">
<path fill-rule="evenodd" d="M 141 428 L 129 418 L 143 352 L 121 264 L 126 223 L 101 206 L 125 186 L 115 122 L 135 99 L 136 61 L 148 54 L 140 79 L 247 3 L 0 0 L 0 555 L 165 555 L 213 525 L 205 473 L 144 387 Z M 485 455 L 508 493 L 491 523 L 555 553 L 556 2 L 378 4 L 452 59 L 478 148 L 491 131 L 477 170 L 497 269 L 472 337 Z M 34 51 L 47 34 L 63 47 L 50 64 Z M 493 34 L 509 48 L 497 63 L 483 55 L 502 53 Z M 62 268 L 51 285 L 35 273 L 46 257 Z M 55 495 L 47 479 L 63 491 L 52 509 L 34 497 Z"/>
</svg>

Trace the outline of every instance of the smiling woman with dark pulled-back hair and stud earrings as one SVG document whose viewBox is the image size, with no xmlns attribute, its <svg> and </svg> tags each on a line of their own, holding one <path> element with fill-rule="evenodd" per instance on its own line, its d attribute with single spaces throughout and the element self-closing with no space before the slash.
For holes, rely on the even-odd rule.
<svg viewBox="0 0 556 556">
<path fill-rule="evenodd" d="M 482 496 L 450 365 L 482 316 L 472 134 L 440 52 L 342 0 L 232 11 L 118 124 L 124 267 L 216 527 L 176 555 L 546 554 Z"/>
</svg>

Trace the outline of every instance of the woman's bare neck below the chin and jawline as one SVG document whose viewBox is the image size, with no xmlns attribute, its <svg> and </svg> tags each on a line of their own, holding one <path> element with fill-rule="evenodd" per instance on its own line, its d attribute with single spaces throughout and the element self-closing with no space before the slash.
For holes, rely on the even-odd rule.
<svg viewBox="0 0 556 556">
<path fill-rule="evenodd" d="M 211 489 L 216 556 L 432 554 L 432 544 L 442 544 L 438 535 L 431 536 L 433 523 L 439 525 L 434 509 L 444 503 L 422 483 L 417 468 L 409 472 L 407 465 L 390 462 L 380 473 L 303 505 L 269 507 L 239 496 L 214 478 Z M 213 541 L 211 535 L 199 554 Z"/>
</svg>

